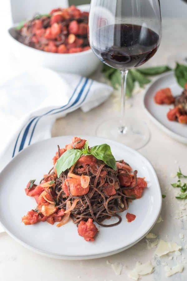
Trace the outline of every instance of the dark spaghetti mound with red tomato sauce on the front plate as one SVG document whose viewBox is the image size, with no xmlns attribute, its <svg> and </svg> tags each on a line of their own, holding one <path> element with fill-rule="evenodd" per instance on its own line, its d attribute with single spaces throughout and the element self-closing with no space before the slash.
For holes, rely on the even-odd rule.
<svg viewBox="0 0 187 281">
<path fill-rule="evenodd" d="M 53 158 L 54 164 L 67 150 L 77 149 L 81 153 L 80 149 L 84 147 L 85 142 L 80 138 L 74 138 L 65 149 L 58 146 Z M 88 151 L 91 151 L 90 148 Z M 26 194 L 35 196 L 38 206 L 31 214 L 28 212 L 22 221 L 25 224 L 45 220 L 54 224 L 58 221 L 60 223 L 57 226 L 61 226 L 71 217 L 78 226 L 79 235 L 87 241 L 93 240 L 97 232 L 92 220 L 103 227 L 120 224 L 122 221 L 120 213 L 128 209 L 128 200 L 140 198 L 146 182 L 137 178 L 136 170 L 132 174 L 131 167 L 123 160 L 116 162 L 116 170 L 105 162 L 91 154 L 82 155 L 74 165 L 62 171 L 59 177 L 54 166 L 47 175 L 44 175 L 40 185 L 32 184 L 30 187 L 30 181 Z M 112 217 L 116 217 L 117 222 L 106 223 L 106 219 Z M 89 232 L 90 229 L 92 234 Z"/>
</svg>

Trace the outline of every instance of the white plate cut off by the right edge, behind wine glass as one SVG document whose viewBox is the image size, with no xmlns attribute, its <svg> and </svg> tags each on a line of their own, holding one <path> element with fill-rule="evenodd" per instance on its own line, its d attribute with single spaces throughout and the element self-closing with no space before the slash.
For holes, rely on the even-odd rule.
<svg viewBox="0 0 187 281">
<path fill-rule="evenodd" d="M 173 105 L 158 105 L 154 101 L 156 91 L 169 87 L 173 96 L 182 93 L 182 88 L 178 85 L 173 71 L 161 75 L 147 89 L 144 96 L 144 108 L 151 120 L 167 135 L 187 144 L 187 125 L 178 122 L 172 122 L 167 119 L 167 113 Z"/>
</svg>

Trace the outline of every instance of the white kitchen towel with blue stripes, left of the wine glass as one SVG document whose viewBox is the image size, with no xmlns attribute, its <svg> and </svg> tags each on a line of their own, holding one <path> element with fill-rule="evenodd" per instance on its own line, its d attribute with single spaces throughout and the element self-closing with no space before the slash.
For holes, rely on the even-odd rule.
<svg viewBox="0 0 187 281">
<path fill-rule="evenodd" d="M 50 138 L 57 118 L 78 108 L 87 112 L 112 91 L 92 79 L 46 68 L 9 79 L 0 86 L 0 170 L 28 145 Z"/>
</svg>

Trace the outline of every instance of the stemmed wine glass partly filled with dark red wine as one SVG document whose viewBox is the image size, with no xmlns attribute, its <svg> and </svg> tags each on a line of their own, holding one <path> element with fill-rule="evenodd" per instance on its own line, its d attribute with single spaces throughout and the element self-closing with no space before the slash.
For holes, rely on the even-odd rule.
<svg viewBox="0 0 187 281">
<path fill-rule="evenodd" d="M 149 141 L 146 123 L 125 118 L 128 70 L 141 66 L 157 51 L 161 41 L 159 0 L 92 0 L 89 42 L 95 55 L 121 71 L 121 117 L 103 121 L 96 135 L 140 149 Z"/>
</svg>

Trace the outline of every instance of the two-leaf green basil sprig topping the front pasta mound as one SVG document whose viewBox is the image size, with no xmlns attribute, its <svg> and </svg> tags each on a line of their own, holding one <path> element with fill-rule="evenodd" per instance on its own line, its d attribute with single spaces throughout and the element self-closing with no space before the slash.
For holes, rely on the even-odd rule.
<svg viewBox="0 0 187 281">
<path fill-rule="evenodd" d="M 112 155 L 110 146 L 105 144 L 96 145 L 89 149 L 86 141 L 82 150 L 70 149 L 63 153 L 56 162 L 56 171 L 58 177 L 62 172 L 73 166 L 82 155 L 93 155 L 95 158 L 102 160 L 106 165 L 116 170 L 116 160 Z"/>
</svg>

